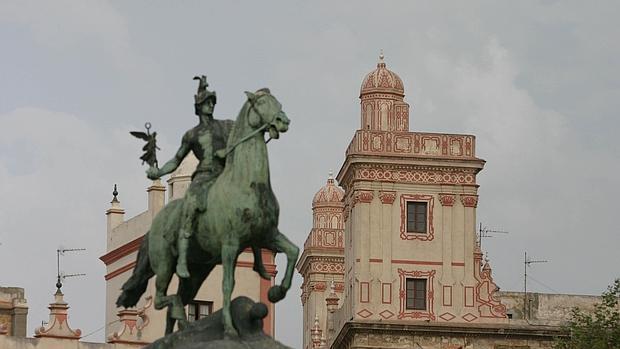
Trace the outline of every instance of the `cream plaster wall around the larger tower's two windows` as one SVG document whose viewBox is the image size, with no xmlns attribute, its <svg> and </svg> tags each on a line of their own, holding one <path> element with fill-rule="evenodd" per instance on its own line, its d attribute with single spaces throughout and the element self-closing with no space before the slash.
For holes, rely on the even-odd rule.
<svg viewBox="0 0 620 349">
<path fill-rule="evenodd" d="M 378 315 L 380 312 L 387 310 L 398 314 L 400 310 L 398 269 L 435 272 L 433 277 L 435 315 L 448 311 L 460 317 L 474 311 L 474 307 L 464 308 L 463 292 L 464 286 L 475 287 L 477 283 L 474 278 L 476 266 L 473 260 L 476 240 L 475 208 L 464 207 L 459 200 L 459 194 L 476 195 L 475 187 L 356 182 L 352 190 L 354 193 L 372 192 L 373 199 L 370 203 L 358 202 L 355 205 L 351 212 L 350 228 L 347 231 L 347 237 L 353 238 L 352 249 L 347 249 L 351 253 L 350 258 L 347 258 L 347 267 L 352 268 L 350 277 L 354 277 L 353 308 L 349 313 L 350 316 L 357 319 L 385 320 Z M 381 191 L 395 191 L 394 202 L 382 203 L 379 199 Z M 454 206 L 442 206 L 439 193 L 455 194 Z M 400 198 L 402 195 L 412 194 L 432 197 L 434 237 L 430 241 L 400 238 L 402 223 Z M 361 282 L 370 283 L 368 303 L 360 301 Z M 389 297 L 391 304 L 383 303 L 383 283 L 392 285 Z M 452 286 L 452 306 L 443 306 L 444 285 Z M 372 312 L 373 315 L 360 316 L 358 313 L 363 309 Z"/>
</svg>

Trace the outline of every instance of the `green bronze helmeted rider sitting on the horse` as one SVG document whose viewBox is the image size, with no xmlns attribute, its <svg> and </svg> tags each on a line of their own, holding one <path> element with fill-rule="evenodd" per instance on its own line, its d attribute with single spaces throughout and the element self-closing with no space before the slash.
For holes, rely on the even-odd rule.
<svg viewBox="0 0 620 349">
<path fill-rule="evenodd" d="M 189 277 L 187 249 L 189 238 L 196 229 L 195 218 L 198 212 L 206 211 L 209 189 L 224 170 L 225 159 L 216 156 L 216 152 L 226 148 L 228 135 L 234 124 L 232 120 L 213 119 L 213 109 L 217 102 L 215 92 L 207 90 L 209 84 L 207 84 L 206 76 L 196 76 L 194 79 L 199 80 L 198 92 L 194 96 L 195 113 L 199 118 L 198 125 L 185 132 L 181 147 L 170 161 L 160 169 L 151 167 L 146 171 L 150 179 L 158 179 L 171 173 L 179 167 L 190 150 L 199 161 L 196 171 L 192 174 L 192 182 L 183 198 L 181 229 L 177 237 L 176 266 L 176 273 L 181 278 Z"/>
</svg>

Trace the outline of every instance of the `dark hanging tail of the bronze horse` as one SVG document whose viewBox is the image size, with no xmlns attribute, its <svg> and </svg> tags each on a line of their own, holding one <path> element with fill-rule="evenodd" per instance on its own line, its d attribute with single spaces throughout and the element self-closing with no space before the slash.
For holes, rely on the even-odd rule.
<svg viewBox="0 0 620 349">
<path fill-rule="evenodd" d="M 138 258 L 133 274 L 131 274 L 129 280 L 123 284 L 121 295 L 116 300 L 116 306 L 118 307 L 123 306 L 129 308 L 135 306 L 142 294 L 144 294 L 144 291 L 146 291 L 149 279 L 155 275 L 149 261 L 148 234 L 148 232 L 144 234 L 142 244 L 140 244 L 140 250 L 138 251 Z"/>
</svg>

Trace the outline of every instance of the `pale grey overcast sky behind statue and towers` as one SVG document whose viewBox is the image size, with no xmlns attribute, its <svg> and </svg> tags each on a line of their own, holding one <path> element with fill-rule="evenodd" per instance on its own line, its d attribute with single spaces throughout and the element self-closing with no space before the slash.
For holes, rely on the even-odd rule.
<svg viewBox="0 0 620 349">
<path fill-rule="evenodd" d="M 104 325 L 112 186 L 146 208 L 150 121 L 169 158 L 196 124 L 192 77 L 217 118 L 267 86 L 291 119 L 269 143 L 280 227 L 302 245 L 311 200 L 359 127 L 359 87 L 380 49 L 405 84 L 411 130 L 471 133 L 487 161 L 478 218 L 495 280 L 600 294 L 620 277 L 618 2 L 0 1 L 0 285 L 26 289 L 28 334 L 47 319 L 59 246 L 70 324 Z M 283 263 L 280 260 L 280 263 Z M 280 269 L 283 265 L 280 265 Z M 301 346 L 296 282 L 277 338 Z M 102 331 L 85 340 L 103 340 Z"/>
</svg>

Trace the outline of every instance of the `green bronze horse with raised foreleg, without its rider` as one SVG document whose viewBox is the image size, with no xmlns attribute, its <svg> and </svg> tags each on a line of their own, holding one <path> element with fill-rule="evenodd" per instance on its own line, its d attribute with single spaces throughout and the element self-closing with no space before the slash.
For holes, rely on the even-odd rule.
<svg viewBox="0 0 620 349">
<path fill-rule="evenodd" d="M 226 337 L 237 336 L 230 313 L 234 271 L 239 254 L 246 248 L 254 252 L 254 270 L 270 279 L 262 264 L 260 249 L 284 252 L 287 266 L 280 285 L 269 289 L 271 302 L 284 298 L 291 287 L 299 248 L 278 230 L 279 206 L 271 188 L 269 162 L 264 134 L 278 138 L 290 123 L 282 105 L 268 89 L 246 92 L 234 129 L 228 139 L 226 166 L 209 191 L 207 211 L 197 217 L 196 233 L 191 237 L 188 253 L 189 278 L 179 279 L 174 295 L 167 288 L 175 271 L 174 246 L 181 227 L 182 200 L 166 205 L 153 220 L 140 250 L 136 267 L 123 285 L 118 306 L 135 306 L 145 292 L 148 280 L 156 275 L 156 309 L 168 307 L 166 333 L 174 324 L 185 327 L 184 306 L 196 296 L 213 268 L 222 264 L 223 325 Z"/>
</svg>

